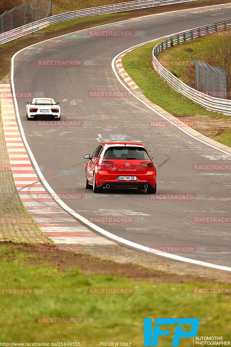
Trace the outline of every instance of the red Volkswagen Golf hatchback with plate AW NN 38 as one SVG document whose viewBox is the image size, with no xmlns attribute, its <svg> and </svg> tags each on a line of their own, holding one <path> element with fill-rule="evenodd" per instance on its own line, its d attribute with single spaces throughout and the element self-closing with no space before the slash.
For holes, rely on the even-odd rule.
<svg viewBox="0 0 231 347">
<path fill-rule="evenodd" d="M 94 193 L 101 193 L 103 188 L 137 188 L 156 193 L 157 170 L 141 143 L 101 143 L 92 155 L 83 158 L 89 159 L 85 186 L 93 187 Z"/>
</svg>

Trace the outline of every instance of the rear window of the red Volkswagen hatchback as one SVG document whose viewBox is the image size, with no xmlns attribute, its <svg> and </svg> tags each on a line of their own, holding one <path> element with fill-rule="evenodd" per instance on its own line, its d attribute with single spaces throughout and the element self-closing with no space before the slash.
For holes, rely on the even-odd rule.
<svg viewBox="0 0 231 347">
<path fill-rule="evenodd" d="M 148 153 L 143 147 L 109 147 L 105 154 L 104 159 L 144 159 L 149 160 Z"/>
</svg>

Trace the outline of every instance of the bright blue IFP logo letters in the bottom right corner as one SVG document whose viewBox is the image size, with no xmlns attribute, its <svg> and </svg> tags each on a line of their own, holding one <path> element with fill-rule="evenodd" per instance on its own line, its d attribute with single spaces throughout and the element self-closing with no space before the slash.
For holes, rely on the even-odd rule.
<svg viewBox="0 0 231 347">
<path fill-rule="evenodd" d="M 144 318 L 144 347 L 157 346 L 159 336 L 169 335 L 170 330 L 161 330 L 162 324 L 171 325 L 191 325 L 189 331 L 183 331 L 183 327 L 176 326 L 172 346 L 178 346 L 181 337 L 194 337 L 197 334 L 198 318 L 156 318 L 154 329 L 152 331 L 152 318 Z"/>
</svg>

